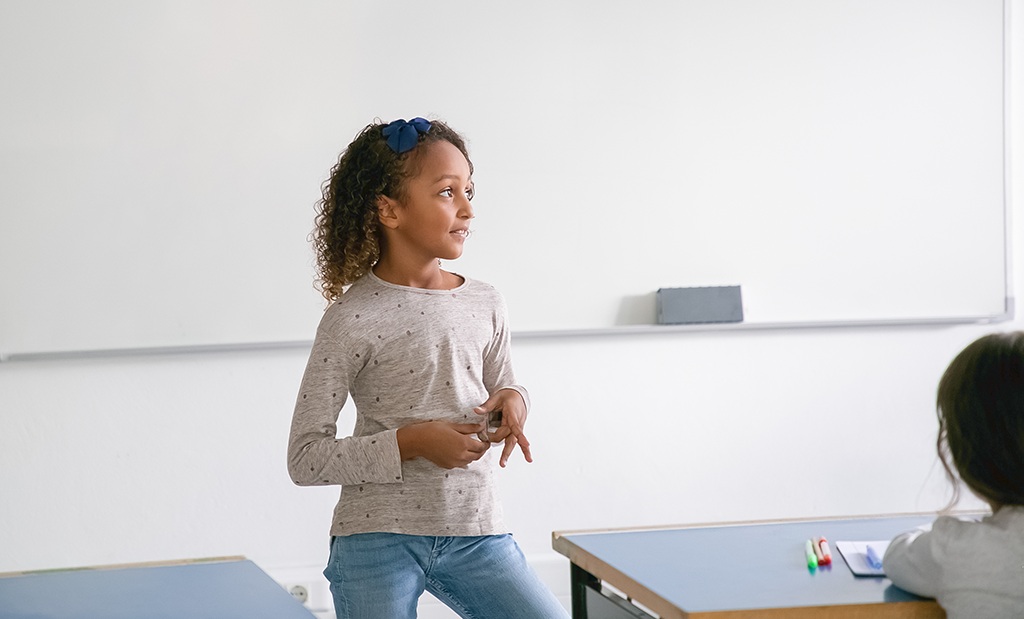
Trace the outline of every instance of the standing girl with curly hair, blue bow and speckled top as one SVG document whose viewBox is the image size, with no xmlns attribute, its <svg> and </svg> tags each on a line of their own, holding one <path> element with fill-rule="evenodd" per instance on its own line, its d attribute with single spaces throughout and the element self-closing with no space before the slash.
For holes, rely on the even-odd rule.
<svg viewBox="0 0 1024 619">
<path fill-rule="evenodd" d="M 302 486 L 340 485 L 331 526 L 339 619 L 416 616 L 424 590 L 466 618 L 566 617 L 502 522 L 505 466 L 529 399 L 495 288 L 443 271 L 473 218 L 473 165 L 439 121 L 368 126 L 324 187 L 313 241 L 331 302 L 288 447 Z M 352 436 L 337 438 L 351 397 Z M 501 417 L 487 431 L 488 418 Z"/>
</svg>

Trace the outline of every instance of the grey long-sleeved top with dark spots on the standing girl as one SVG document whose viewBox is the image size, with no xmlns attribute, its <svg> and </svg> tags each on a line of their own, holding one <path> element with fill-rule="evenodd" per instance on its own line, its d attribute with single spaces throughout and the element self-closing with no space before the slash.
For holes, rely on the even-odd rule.
<svg viewBox="0 0 1024 619">
<path fill-rule="evenodd" d="M 515 384 L 505 302 L 482 282 L 453 290 L 397 286 L 375 275 L 324 314 L 292 417 L 288 470 L 300 486 L 341 485 L 332 535 L 505 533 L 493 455 L 444 469 L 402 462 L 396 430 L 411 423 L 476 423 L 473 408 Z M 351 437 L 337 437 L 348 396 Z"/>
</svg>

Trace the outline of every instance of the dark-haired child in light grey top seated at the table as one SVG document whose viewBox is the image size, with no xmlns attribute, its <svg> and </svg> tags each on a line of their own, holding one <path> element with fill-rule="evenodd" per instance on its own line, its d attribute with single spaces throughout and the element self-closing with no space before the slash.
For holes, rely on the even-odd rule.
<svg viewBox="0 0 1024 619">
<path fill-rule="evenodd" d="M 992 514 L 980 522 L 940 517 L 897 536 L 883 560 L 886 575 L 935 597 L 949 619 L 1020 619 L 1024 332 L 986 335 L 957 355 L 939 382 L 938 417 L 939 459 L 953 483 L 950 506 L 959 498 L 958 478 Z"/>
</svg>

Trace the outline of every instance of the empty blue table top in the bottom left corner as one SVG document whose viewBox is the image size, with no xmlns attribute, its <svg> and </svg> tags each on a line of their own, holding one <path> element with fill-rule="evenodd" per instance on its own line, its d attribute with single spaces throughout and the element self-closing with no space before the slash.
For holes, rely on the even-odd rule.
<svg viewBox="0 0 1024 619">
<path fill-rule="evenodd" d="M 313 619 L 256 564 L 54 570 L 0 577 L 0 619 Z"/>
</svg>

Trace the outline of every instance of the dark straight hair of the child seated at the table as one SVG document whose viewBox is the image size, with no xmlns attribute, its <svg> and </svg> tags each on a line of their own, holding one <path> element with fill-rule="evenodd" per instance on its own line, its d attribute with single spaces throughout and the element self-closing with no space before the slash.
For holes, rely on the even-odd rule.
<svg viewBox="0 0 1024 619">
<path fill-rule="evenodd" d="M 939 459 L 996 508 L 1024 505 L 1024 331 L 985 335 L 939 381 Z M 952 463 L 950 465 L 950 459 Z"/>
</svg>

